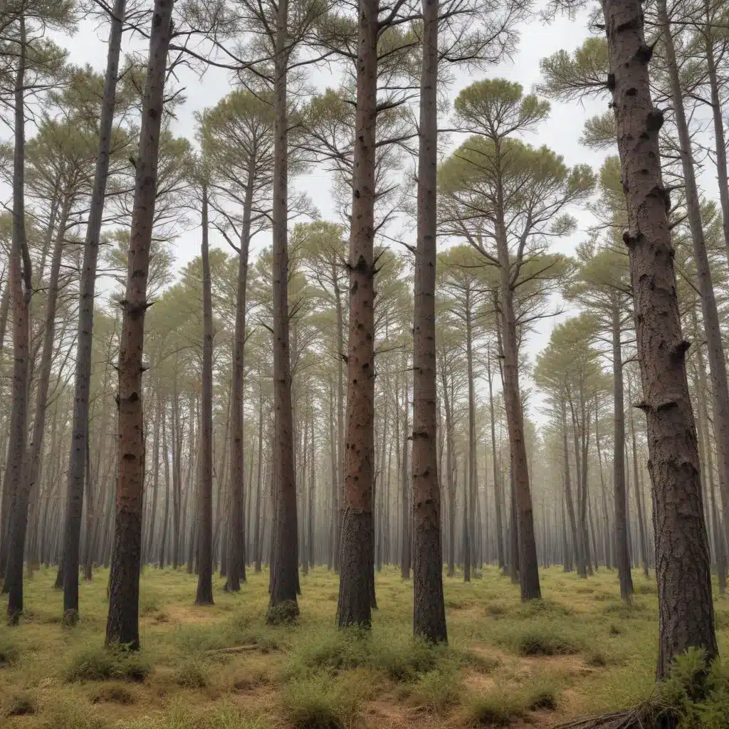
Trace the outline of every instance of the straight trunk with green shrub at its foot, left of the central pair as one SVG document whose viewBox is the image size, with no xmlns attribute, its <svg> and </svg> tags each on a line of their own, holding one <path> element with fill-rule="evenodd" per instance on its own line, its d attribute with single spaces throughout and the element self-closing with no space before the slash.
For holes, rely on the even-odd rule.
<svg viewBox="0 0 729 729">
<path fill-rule="evenodd" d="M 294 420 L 291 404 L 291 355 L 289 349 L 289 250 L 288 224 L 288 111 L 286 74 L 289 63 L 286 30 L 288 0 L 278 2 L 276 30 L 276 89 L 273 155 L 273 401 L 276 453 L 276 519 L 271 542 L 269 620 L 286 604 L 286 613 L 299 612 L 296 599 L 299 582 L 297 544 L 296 474 L 294 466 Z"/>
</svg>

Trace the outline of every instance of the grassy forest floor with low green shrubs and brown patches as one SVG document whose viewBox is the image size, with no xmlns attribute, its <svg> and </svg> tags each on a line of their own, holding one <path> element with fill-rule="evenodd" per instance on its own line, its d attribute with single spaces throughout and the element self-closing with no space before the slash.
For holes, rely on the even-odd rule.
<svg viewBox="0 0 729 729">
<path fill-rule="evenodd" d="M 655 580 L 635 572 L 628 607 L 615 572 L 541 577 L 544 600 L 530 604 L 495 568 L 468 584 L 444 578 L 450 647 L 433 650 L 410 639 L 413 587 L 394 568 L 377 575 L 379 609 L 362 639 L 335 628 L 338 578 L 324 569 L 301 578 L 298 624 L 271 628 L 268 572 L 250 572 L 238 594 L 216 579 L 214 607 L 195 607 L 194 575 L 147 567 L 142 650 L 129 656 L 101 649 L 108 572 L 82 582 L 81 620 L 64 628 L 55 569 L 41 569 L 26 582 L 21 625 L 0 628 L 0 726 L 548 727 L 650 697 Z M 729 600 L 714 609 L 727 655 Z"/>
</svg>

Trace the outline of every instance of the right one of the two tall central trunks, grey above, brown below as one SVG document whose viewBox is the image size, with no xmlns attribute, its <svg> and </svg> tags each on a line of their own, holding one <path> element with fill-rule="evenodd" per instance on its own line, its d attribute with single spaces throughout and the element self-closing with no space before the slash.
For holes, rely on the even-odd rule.
<svg viewBox="0 0 729 729">
<path fill-rule="evenodd" d="M 423 19 L 413 330 L 413 633 L 431 643 L 444 643 L 448 634 L 445 629 L 443 556 L 440 550 L 435 365 L 438 0 L 423 0 Z"/>
</svg>

